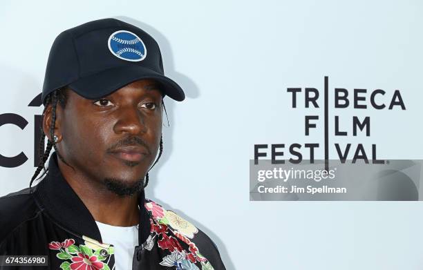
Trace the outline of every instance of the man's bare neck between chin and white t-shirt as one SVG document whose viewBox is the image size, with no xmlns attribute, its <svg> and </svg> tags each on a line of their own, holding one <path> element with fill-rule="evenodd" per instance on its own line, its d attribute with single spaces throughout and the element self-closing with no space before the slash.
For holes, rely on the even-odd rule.
<svg viewBox="0 0 423 270">
<path fill-rule="evenodd" d="M 109 191 L 101 181 L 95 181 L 57 159 L 66 182 L 84 202 L 94 220 L 113 226 L 133 226 L 139 223 L 138 194 L 121 197 Z"/>
</svg>

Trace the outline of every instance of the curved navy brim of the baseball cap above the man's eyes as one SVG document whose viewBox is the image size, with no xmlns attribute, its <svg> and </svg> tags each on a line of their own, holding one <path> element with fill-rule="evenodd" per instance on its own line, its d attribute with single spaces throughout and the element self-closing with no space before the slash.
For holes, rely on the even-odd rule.
<svg viewBox="0 0 423 270">
<path fill-rule="evenodd" d="M 110 68 L 100 73 L 80 78 L 69 84 L 69 87 L 82 97 L 97 99 L 110 95 L 115 90 L 139 79 L 154 79 L 162 86 L 161 90 L 163 90 L 164 95 L 178 102 L 182 102 L 185 99 L 184 91 L 175 81 L 153 70 L 135 65 Z"/>
</svg>

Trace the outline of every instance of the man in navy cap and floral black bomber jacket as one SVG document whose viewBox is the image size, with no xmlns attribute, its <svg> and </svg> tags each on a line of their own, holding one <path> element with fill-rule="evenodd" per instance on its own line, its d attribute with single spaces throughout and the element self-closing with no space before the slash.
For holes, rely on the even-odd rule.
<svg viewBox="0 0 423 270">
<path fill-rule="evenodd" d="M 205 233 L 144 197 L 166 95 L 185 98 L 143 30 L 102 19 L 55 39 L 41 97 L 46 151 L 30 187 L 0 198 L 0 255 L 26 261 L 3 257 L 2 268 L 225 269 Z"/>
</svg>

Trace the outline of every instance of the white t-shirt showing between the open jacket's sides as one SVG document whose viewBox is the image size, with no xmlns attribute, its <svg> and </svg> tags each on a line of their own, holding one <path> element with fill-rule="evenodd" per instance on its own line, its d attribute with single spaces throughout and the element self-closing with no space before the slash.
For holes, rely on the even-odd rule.
<svg viewBox="0 0 423 270">
<path fill-rule="evenodd" d="M 133 253 L 138 246 L 138 225 L 129 227 L 97 223 L 102 241 L 115 247 L 115 270 L 132 269 Z"/>
</svg>

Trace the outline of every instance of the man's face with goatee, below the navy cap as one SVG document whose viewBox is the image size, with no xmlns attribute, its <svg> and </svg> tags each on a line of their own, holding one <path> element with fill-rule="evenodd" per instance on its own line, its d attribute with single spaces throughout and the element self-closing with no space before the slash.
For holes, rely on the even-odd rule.
<svg viewBox="0 0 423 270">
<path fill-rule="evenodd" d="M 129 195 L 127 190 L 140 186 L 158 152 L 162 94 L 152 79 L 97 100 L 68 90 L 65 108 L 57 106 L 56 121 L 57 148 L 66 163 L 115 193 L 126 189 Z"/>
</svg>

